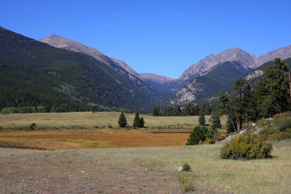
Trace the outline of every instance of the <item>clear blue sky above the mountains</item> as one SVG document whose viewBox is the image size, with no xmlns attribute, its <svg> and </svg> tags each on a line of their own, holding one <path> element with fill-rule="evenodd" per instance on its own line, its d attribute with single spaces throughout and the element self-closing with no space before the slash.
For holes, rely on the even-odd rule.
<svg viewBox="0 0 291 194">
<path fill-rule="evenodd" d="M 290 0 L 1 0 L 0 18 L 25 36 L 56 34 L 173 78 L 231 47 L 262 55 L 291 44 Z"/>
</svg>

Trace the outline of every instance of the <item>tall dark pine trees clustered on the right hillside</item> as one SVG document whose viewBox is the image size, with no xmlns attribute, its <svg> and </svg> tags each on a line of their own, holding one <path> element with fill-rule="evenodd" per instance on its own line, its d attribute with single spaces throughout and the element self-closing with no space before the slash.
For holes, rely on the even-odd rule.
<svg viewBox="0 0 291 194">
<path fill-rule="evenodd" d="M 227 132 L 240 130 L 242 123 L 290 111 L 290 86 L 289 66 L 280 58 L 264 69 L 263 77 L 254 87 L 245 79 L 235 80 L 229 94 L 220 93 L 216 97 L 220 115 L 227 115 Z"/>
</svg>

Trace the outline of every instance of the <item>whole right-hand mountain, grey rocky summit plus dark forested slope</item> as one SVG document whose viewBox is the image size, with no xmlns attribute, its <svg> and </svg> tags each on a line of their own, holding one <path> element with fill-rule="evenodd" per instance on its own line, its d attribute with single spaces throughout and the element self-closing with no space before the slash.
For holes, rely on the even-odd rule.
<svg viewBox="0 0 291 194">
<path fill-rule="evenodd" d="M 276 57 L 283 60 L 290 58 L 291 46 L 275 49 L 259 57 L 238 48 L 227 49 L 220 54 L 211 54 L 197 64 L 191 65 L 177 81 L 172 83 L 171 87 L 177 92 L 170 101 L 172 104 L 186 104 L 215 97 L 219 92 L 227 91 L 235 79 L 244 76 L 248 79 L 261 76 L 260 65 Z M 252 74 L 247 75 L 254 69 L 256 70 Z"/>
</svg>

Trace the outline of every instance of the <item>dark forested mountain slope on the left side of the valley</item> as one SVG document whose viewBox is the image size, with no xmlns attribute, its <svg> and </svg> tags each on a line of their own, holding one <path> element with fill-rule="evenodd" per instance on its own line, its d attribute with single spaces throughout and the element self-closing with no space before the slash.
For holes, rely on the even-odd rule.
<svg viewBox="0 0 291 194">
<path fill-rule="evenodd" d="M 84 111 L 93 102 L 151 111 L 155 91 L 98 52 L 100 60 L 2 27 L 0 45 L 0 109 L 43 106 L 47 111 Z"/>
</svg>

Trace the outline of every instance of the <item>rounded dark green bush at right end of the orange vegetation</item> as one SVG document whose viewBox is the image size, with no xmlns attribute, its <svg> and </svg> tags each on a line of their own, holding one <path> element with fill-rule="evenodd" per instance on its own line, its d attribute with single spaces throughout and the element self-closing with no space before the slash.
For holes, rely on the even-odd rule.
<svg viewBox="0 0 291 194">
<path fill-rule="evenodd" d="M 198 145 L 199 141 L 203 143 L 208 135 L 207 133 L 208 129 L 205 126 L 194 127 L 194 129 L 191 131 L 189 135 L 186 146 Z"/>
</svg>

